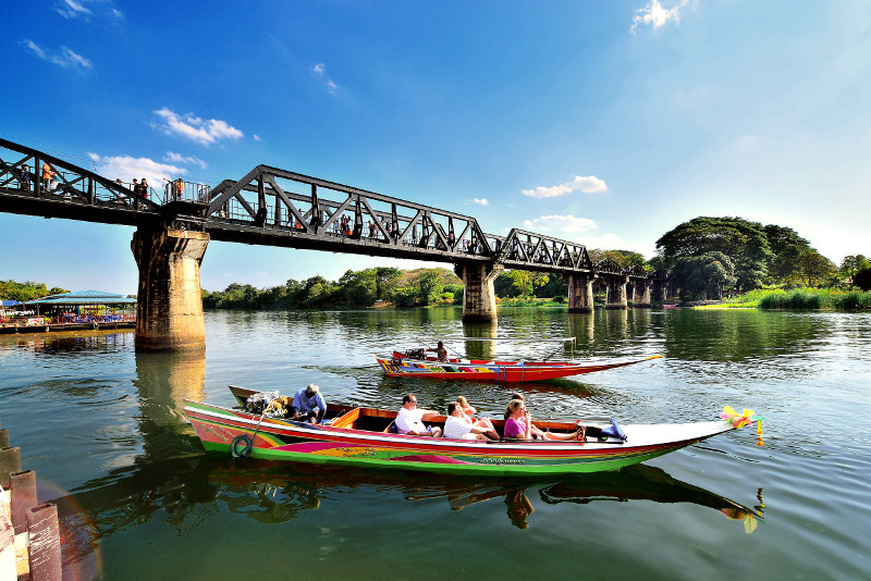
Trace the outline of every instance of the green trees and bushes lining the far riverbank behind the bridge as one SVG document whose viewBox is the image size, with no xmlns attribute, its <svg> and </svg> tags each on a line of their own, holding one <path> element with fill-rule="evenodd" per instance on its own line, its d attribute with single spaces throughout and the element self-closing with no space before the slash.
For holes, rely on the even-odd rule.
<svg viewBox="0 0 871 581">
<path fill-rule="evenodd" d="M 630 250 L 588 249 L 593 263 L 613 260 L 623 269 L 641 267 L 667 273 L 672 301 L 703 308 L 871 309 L 871 261 L 845 257 L 835 265 L 788 227 L 741 218 L 696 218 L 657 240 L 649 261 Z M 502 307 L 564 307 L 568 284 L 560 274 L 525 270 L 501 272 L 493 283 Z M 33 300 L 66 293 L 44 283 L 0 281 L 3 300 Z M 256 288 L 233 283 L 203 290 L 206 309 L 324 309 L 429 307 L 463 304 L 463 282 L 444 268 L 348 270 L 338 281 L 317 275 Z M 597 304 L 605 300 L 602 280 L 593 283 Z"/>
</svg>

